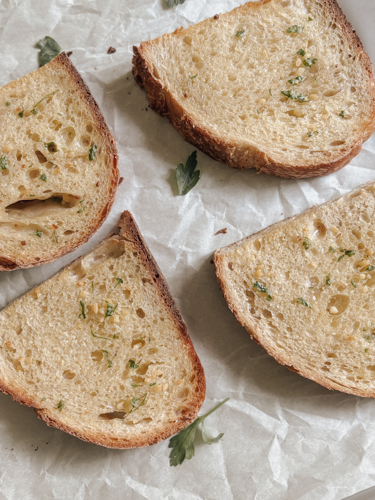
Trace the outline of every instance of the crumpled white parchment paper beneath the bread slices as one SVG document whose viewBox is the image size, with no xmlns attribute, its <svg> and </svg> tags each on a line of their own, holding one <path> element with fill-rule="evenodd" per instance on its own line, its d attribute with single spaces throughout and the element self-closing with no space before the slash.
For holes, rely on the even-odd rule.
<svg viewBox="0 0 375 500">
<path fill-rule="evenodd" d="M 375 2 L 339 0 L 375 60 Z M 90 87 L 113 132 L 124 177 L 101 229 L 49 265 L 0 273 L 0 307 L 89 251 L 134 215 L 205 369 L 202 411 L 224 437 L 196 440 L 169 467 L 167 441 L 111 450 L 37 420 L 0 394 L 0 499 L 339 500 L 375 484 L 375 401 L 330 392 L 289 372 L 250 340 L 218 288 L 213 251 L 375 178 L 375 137 L 338 172 L 282 179 L 235 171 L 200 151 L 201 178 L 177 196 L 174 168 L 194 147 L 147 107 L 131 74 L 132 45 L 239 5 L 237 0 L 0 0 L 0 85 L 37 68 L 35 43 L 52 36 Z M 112 46 L 116 52 L 108 55 Z M 227 232 L 214 235 L 226 227 Z"/>
</svg>

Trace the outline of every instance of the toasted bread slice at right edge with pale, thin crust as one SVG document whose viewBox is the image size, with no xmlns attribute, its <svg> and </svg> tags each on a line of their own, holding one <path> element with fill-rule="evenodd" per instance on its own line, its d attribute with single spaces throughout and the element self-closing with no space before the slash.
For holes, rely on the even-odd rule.
<svg viewBox="0 0 375 500">
<path fill-rule="evenodd" d="M 375 184 L 216 250 L 223 295 L 276 361 L 375 397 Z"/>
</svg>

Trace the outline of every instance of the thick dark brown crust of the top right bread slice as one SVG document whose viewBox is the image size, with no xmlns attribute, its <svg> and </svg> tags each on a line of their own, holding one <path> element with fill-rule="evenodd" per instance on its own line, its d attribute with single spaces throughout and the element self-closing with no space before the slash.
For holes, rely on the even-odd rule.
<svg viewBox="0 0 375 500">
<path fill-rule="evenodd" d="M 233 10 L 259 6 L 262 3 L 268 2 L 269 0 L 259 2 L 250 1 Z M 147 55 L 148 46 L 153 43 L 153 40 L 141 42 L 139 47 L 133 46 L 132 70 L 134 78 L 140 87 L 146 90 L 150 107 L 161 116 L 168 117 L 172 125 L 188 142 L 217 161 L 240 170 L 255 167 L 257 173 L 278 175 L 286 178 L 313 177 L 335 172 L 349 163 L 359 153 L 363 142 L 375 130 L 375 79 L 371 60 L 367 53 L 364 52 L 361 40 L 350 22 L 346 19 L 337 1 L 320 0 L 320 3 L 322 3 L 322 9 L 325 9 L 332 16 L 332 20 L 341 26 L 344 35 L 353 46 L 353 52 L 357 56 L 361 54 L 363 74 L 368 78 L 368 87 L 371 89 L 370 93 L 372 95 L 368 124 L 364 128 L 362 135 L 353 142 L 350 149 L 346 152 L 335 154 L 336 159 L 333 161 L 329 161 L 331 153 L 327 151 L 329 154 L 326 155 L 327 160 L 324 163 L 311 164 L 305 162 L 304 164 L 291 165 L 272 159 L 271 156 L 267 156 L 265 152 L 250 144 L 239 147 L 235 143 L 228 142 L 225 137 L 207 132 L 204 127 L 199 126 L 199 123 L 186 114 L 185 110 L 176 102 L 172 94 L 165 89 L 163 82 L 154 76 L 152 63 L 149 61 Z M 176 29 L 173 34 L 180 31 L 183 31 L 183 28 Z"/>
</svg>

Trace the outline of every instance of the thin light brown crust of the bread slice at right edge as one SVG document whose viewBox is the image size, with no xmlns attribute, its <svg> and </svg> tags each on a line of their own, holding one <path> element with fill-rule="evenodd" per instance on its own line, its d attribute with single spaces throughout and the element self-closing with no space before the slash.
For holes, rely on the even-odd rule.
<svg viewBox="0 0 375 500">
<path fill-rule="evenodd" d="M 328 200 L 325 203 L 322 203 L 321 205 L 319 205 L 319 207 L 324 206 L 324 205 L 329 205 L 330 203 L 333 203 L 334 201 L 336 201 L 340 198 L 351 195 L 355 192 L 359 192 L 360 190 L 366 189 L 367 187 L 369 187 L 371 185 L 375 185 L 374 181 L 372 181 L 372 180 L 369 182 L 366 182 L 365 184 L 358 186 L 357 188 L 353 189 L 352 191 L 348 191 L 346 194 L 343 194 L 342 196 L 336 196 L 335 198 Z M 314 211 L 314 207 L 308 208 L 307 210 L 304 210 L 303 212 L 301 212 L 298 215 L 306 214 L 308 212 L 313 212 L 313 211 Z M 319 385 L 322 385 L 323 387 L 325 387 L 328 390 L 339 390 L 340 392 L 345 392 L 346 394 L 353 394 L 356 396 L 375 398 L 375 391 L 368 392 L 366 390 L 354 389 L 351 387 L 347 387 L 345 385 L 341 385 L 340 383 L 335 383 L 335 382 L 332 382 L 331 380 L 327 380 L 326 377 L 319 375 L 318 373 L 313 372 L 312 370 L 311 370 L 311 372 L 304 371 L 302 369 L 298 369 L 297 367 L 295 367 L 293 365 L 288 364 L 290 362 L 290 360 L 287 361 L 283 357 L 278 356 L 272 350 L 272 347 L 266 342 L 266 333 L 265 334 L 262 333 L 261 328 L 258 327 L 254 322 L 248 321 L 248 319 L 246 318 L 246 314 L 237 311 L 236 304 L 239 304 L 239 301 L 236 300 L 235 298 L 233 299 L 233 294 L 231 293 L 230 289 L 226 286 L 226 282 L 225 282 L 226 273 L 225 273 L 225 271 L 223 271 L 223 262 L 222 262 L 221 256 L 223 254 L 225 254 L 226 251 L 232 249 L 235 246 L 241 245 L 241 243 L 244 243 L 246 240 L 253 239 L 256 236 L 259 236 L 260 234 L 266 233 L 270 229 L 274 229 L 276 226 L 287 224 L 287 222 L 290 219 L 293 219 L 295 216 L 296 215 L 293 215 L 293 216 L 288 217 L 286 219 L 279 220 L 278 222 L 275 222 L 275 223 L 269 225 L 268 227 L 261 229 L 260 231 L 254 232 L 253 234 L 246 236 L 246 237 L 244 237 L 244 238 L 242 238 L 234 243 L 231 243 L 227 246 L 223 246 L 223 247 L 215 250 L 215 252 L 213 254 L 213 263 L 215 265 L 216 278 L 217 278 L 217 281 L 219 283 L 222 295 L 223 295 L 229 309 L 234 314 L 238 323 L 241 326 L 244 326 L 246 328 L 246 331 L 250 335 L 250 338 L 252 340 L 254 340 L 258 345 L 263 347 L 263 349 L 267 352 L 267 354 L 272 356 L 278 363 L 286 366 L 289 370 L 294 371 L 295 373 L 298 373 L 298 375 L 301 375 L 304 378 L 308 378 L 308 379 L 318 383 Z"/>
</svg>

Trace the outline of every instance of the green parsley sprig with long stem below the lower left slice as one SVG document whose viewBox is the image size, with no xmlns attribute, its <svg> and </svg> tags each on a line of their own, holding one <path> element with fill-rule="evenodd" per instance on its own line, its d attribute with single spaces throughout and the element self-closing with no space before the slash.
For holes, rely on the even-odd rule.
<svg viewBox="0 0 375 500">
<path fill-rule="evenodd" d="M 176 465 L 180 465 L 185 458 L 190 460 L 195 454 L 194 448 L 194 437 L 196 429 L 199 423 L 202 423 L 205 418 L 213 413 L 217 408 L 219 408 L 222 404 L 224 404 L 229 397 L 218 403 L 214 408 L 208 411 L 205 415 L 198 416 L 195 420 L 190 423 L 187 427 L 180 430 L 178 434 L 174 435 L 169 439 L 168 448 L 173 448 L 169 455 L 169 465 L 175 467 Z M 203 437 L 204 434 L 204 437 Z M 219 434 L 216 438 L 211 438 L 211 436 L 206 432 L 205 429 L 202 429 L 202 438 L 206 438 L 205 442 L 209 442 L 210 444 L 214 442 L 214 440 L 220 439 L 223 434 Z"/>
</svg>

